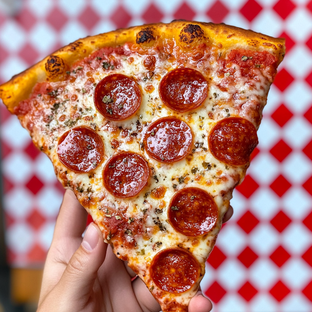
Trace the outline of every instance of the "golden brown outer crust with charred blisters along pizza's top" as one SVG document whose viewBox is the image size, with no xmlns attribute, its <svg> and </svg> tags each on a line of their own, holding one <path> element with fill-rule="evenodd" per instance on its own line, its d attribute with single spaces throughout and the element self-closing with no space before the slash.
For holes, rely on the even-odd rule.
<svg viewBox="0 0 312 312">
<path fill-rule="evenodd" d="M 278 64 L 285 54 L 285 39 L 276 39 L 225 24 L 175 20 L 168 24 L 136 26 L 79 39 L 59 49 L 51 56 L 2 84 L 0 98 L 13 113 L 14 107 L 21 100 L 29 97 L 37 82 L 61 79 L 67 68 L 74 62 L 87 57 L 94 51 L 103 47 L 122 46 L 125 43 L 136 44 L 145 49 L 157 44 L 158 39 L 176 39 L 181 48 L 186 50 L 191 49 L 194 45 L 208 42 L 208 44 L 225 50 L 245 48 L 268 51 L 277 57 Z"/>
</svg>

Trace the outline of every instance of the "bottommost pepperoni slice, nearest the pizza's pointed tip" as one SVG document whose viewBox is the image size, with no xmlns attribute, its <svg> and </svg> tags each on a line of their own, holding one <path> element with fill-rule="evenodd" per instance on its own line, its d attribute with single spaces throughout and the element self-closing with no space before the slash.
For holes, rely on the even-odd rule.
<svg viewBox="0 0 312 312">
<path fill-rule="evenodd" d="M 159 252 L 150 268 L 156 286 L 173 293 L 189 290 L 197 281 L 199 273 L 200 267 L 195 257 L 181 248 Z"/>
</svg>

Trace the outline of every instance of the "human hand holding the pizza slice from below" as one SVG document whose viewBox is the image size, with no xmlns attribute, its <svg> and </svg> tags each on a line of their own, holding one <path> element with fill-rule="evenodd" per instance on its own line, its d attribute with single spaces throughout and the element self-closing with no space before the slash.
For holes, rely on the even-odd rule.
<svg viewBox="0 0 312 312">
<path fill-rule="evenodd" d="M 82 239 L 86 220 L 86 211 L 67 190 L 44 267 L 38 312 L 160 311 L 143 281 L 132 281 L 136 274 L 104 243 L 97 225 L 91 223 Z M 211 309 L 200 291 L 189 304 L 189 312 Z"/>
</svg>

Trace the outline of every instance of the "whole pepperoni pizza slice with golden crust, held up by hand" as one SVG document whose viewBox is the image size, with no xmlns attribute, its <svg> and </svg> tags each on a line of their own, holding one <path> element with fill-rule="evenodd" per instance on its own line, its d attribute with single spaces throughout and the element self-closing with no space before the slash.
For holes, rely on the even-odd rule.
<svg viewBox="0 0 312 312">
<path fill-rule="evenodd" d="M 0 98 L 162 310 L 185 312 L 284 53 L 224 24 L 137 26 L 71 43 Z"/>
</svg>

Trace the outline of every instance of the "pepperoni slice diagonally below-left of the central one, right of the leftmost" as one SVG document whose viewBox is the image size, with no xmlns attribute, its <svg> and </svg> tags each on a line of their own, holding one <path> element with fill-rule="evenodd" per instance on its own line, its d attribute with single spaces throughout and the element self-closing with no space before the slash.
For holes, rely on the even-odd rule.
<svg viewBox="0 0 312 312">
<path fill-rule="evenodd" d="M 146 185 L 149 168 L 146 160 L 130 152 L 113 156 L 105 165 L 103 182 L 108 192 L 120 198 L 137 195 Z"/>
</svg>

